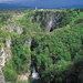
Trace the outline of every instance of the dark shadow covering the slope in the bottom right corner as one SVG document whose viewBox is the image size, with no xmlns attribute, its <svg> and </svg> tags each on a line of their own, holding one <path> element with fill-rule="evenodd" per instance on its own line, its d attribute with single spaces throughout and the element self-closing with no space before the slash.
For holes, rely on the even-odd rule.
<svg viewBox="0 0 83 83">
<path fill-rule="evenodd" d="M 59 77 L 62 77 L 62 81 Z M 75 60 L 66 71 L 61 72 L 50 83 L 83 83 L 83 58 Z"/>
</svg>

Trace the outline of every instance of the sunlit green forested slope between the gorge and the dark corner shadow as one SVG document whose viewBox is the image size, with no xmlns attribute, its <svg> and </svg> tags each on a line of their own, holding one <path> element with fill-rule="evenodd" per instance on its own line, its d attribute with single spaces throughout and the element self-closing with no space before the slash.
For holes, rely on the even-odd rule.
<svg viewBox="0 0 83 83">
<path fill-rule="evenodd" d="M 58 83 L 60 79 L 62 82 L 66 81 L 68 68 L 73 66 L 75 59 L 82 58 L 82 23 L 71 28 L 58 29 L 42 38 L 40 35 L 33 38 L 33 42 L 37 44 L 32 51 L 33 61 L 45 83 Z"/>
</svg>

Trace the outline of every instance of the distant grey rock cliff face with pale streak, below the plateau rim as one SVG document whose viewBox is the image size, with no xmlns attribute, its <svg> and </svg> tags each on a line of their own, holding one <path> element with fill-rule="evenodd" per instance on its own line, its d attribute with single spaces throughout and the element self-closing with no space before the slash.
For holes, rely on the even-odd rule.
<svg viewBox="0 0 83 83">
<path fill-rule="evenodd" d="M 40 23 L 40 28 L 45 28 L 45 32 L 50 32 L 55 29 L 55 23 L 61 15 L 61 11 L 37 11 L 31 19 L 32 22 Z"/>
</svg>

